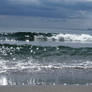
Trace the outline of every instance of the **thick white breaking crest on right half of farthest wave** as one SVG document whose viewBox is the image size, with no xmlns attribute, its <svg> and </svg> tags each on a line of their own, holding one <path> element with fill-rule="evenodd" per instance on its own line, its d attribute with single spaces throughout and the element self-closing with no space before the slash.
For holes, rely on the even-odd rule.
<svg viewBox="0 0 92 92">
<path fill-rule="evenodd" d="M 92 41 L 92 35 L 88 34 L 57 34 L 53 35 L 52 37 L 48 37 L 49 40 L 56 40 L 56 41 Z"/>
</svg>

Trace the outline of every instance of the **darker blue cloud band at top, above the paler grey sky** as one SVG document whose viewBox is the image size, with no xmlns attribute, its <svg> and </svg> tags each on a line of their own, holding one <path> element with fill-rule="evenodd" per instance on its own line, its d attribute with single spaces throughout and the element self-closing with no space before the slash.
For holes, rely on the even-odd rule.
<svg viewBox="0 0 92 92">
<path fill-rule="evenodd" d="M 92 0 L 0 0 L 0 15 L 91 17 Z"/>
</svg>

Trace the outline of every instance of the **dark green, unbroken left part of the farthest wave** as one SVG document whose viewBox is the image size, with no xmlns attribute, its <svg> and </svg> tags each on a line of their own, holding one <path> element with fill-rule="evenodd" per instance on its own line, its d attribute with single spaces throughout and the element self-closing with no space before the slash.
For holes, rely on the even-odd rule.
<svg viewBox="0 0 92 92">
<path fill-rule="evenodd" d="M 31 32 L 16 32 L 16 33 L 0 33 L 1 40 L 16 40 L 16 41 L 34 41 L 35 37 L 43 36 L 45 37 L 52 36 L 51 33 L 31 33 Z"/>
</svg>

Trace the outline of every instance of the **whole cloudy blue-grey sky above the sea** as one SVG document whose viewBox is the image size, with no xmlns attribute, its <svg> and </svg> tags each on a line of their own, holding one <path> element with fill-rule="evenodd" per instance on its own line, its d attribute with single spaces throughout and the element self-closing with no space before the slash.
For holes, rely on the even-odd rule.
<svg viewBox="0 0 92 92">
<path fill-rule="evenodd" d="M 92 0 L 0 0 L 2 28 L 92 28 Z"/>
</svg>

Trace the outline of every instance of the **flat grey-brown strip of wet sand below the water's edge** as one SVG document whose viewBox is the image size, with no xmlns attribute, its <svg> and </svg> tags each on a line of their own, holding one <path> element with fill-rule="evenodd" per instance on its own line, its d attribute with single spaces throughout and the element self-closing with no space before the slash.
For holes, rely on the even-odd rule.
<svg viewBox="0 0 92 92">
<path fill-rule="evenodd" d="M 92 92 L 92 86 L 6 86 L 0 92 Z"/>
</svg>

